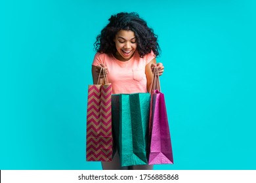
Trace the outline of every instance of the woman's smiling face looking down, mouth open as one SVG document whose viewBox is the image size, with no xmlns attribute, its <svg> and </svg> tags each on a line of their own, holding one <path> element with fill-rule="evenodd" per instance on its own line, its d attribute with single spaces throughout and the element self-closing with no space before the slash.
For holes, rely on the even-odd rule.
<svg viewBox="0 0 256 183">
<path fill-rule="evenodd" d="M 121 61 L 129 60 L 136 51 L 137 41 L 133 31 L 118 31 L 114 42 L 117 50 L 116 58 Z"/>
</svg>

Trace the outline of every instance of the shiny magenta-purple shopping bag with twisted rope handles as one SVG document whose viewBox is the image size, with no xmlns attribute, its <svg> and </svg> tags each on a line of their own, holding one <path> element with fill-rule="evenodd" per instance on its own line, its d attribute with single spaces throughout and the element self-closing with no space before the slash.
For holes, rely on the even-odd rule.
<svg viewBox="0 0 256 183">
<path fill-rule="evenodd" d="M 171 146 L 171 135 L 169 131 L 169 122 L 165 107 L 165 98 L 160 91 L 160 80 L 154 69 L 153 88 L 150 91 L 150 123 L 149 123 L 149 144 L 150 152 L 148 164 L 173 164 L 173 150 Z M 156 89 L 156 90 L 155 90 Z"/>
</svg>

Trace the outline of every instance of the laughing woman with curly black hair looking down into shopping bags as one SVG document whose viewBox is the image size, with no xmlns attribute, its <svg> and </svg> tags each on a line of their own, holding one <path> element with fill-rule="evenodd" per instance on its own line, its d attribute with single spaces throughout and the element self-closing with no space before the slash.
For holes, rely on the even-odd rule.
<svg viewBox="0 0 256 183">
<path fill-rule="evenodd" d="M 157 67 L 159 75 L 163 74 L 163 64 L 156 63 L 156 56 L 160 54 L 157 36 L 135 12 L 111 16 L 108 25 L 96 37 L 95 50 L 93 83 L 97 83 L 100 69 L 104 67 L 113 94 L 146 93 L 152 82 L 152 69 Z M 152 168 L 152 165 L 121 167 L 117 153 L 112 161 L 102 161 L 102 169 Z"/>
</svg>

